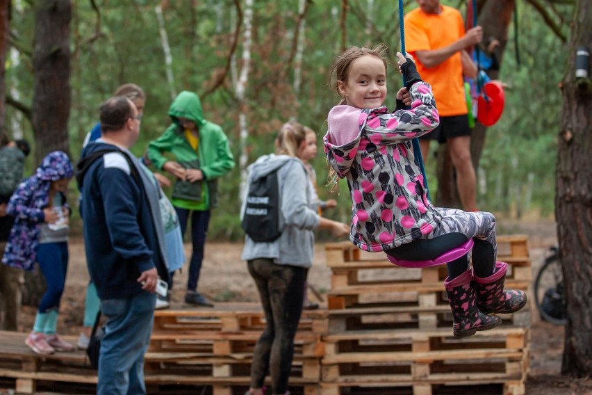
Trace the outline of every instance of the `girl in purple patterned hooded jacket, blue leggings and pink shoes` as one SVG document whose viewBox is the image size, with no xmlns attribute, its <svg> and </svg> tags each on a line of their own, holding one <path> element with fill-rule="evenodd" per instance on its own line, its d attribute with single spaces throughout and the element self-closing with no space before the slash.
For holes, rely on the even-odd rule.
<svg viewBox="0 0 592 395">
<path fill-rule="evenodd" d="M 72 175 L 74 169 L 67 154 L 51 152 L 35 174 L 18 186 L 6 207 L 6 212 L 15 217 L 15 224 L 2 263 L 31 271 L 38 261 L 47 284 L 33 331 L 25 341 L 38 354 L 74 350 L 72 344 L 56 334 L 68 267 L 70 209 L 66 204 L 66 191 Z"/>
</svg>

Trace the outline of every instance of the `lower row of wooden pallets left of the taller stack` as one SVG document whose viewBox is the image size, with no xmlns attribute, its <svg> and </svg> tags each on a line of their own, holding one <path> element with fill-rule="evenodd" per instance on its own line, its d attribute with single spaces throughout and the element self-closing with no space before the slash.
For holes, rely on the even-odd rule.
<svg viewBox="0 0 592 395">
<path fill-rule="evenodd" d="M 294 394 L 318 394 L 324 353 L 321 335 L 327 332 L 326 323 L 324 311 L 302 316 L 290 377 Z M 172 306 L 156 311 L 145 355 L 149 394 L 244 394 L 254 345 L 264 327 L 258 303 L 220 303 L 214 309 Z M 15 380 L 18 393 L 34 394 L 48 388 L 94 393 L 97 371 L 83 351 L 42 356 L 27 348 L 25 338 L 22 332 L 0 332 L 0 378 Z M 75 337 L 65 339 L 76 341 Z"/>
</svg>

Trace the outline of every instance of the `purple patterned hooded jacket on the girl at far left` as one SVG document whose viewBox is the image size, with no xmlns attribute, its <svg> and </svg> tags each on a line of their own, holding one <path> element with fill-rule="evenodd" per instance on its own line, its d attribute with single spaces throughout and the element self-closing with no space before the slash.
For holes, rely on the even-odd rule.
<svg viewBox="0 0 592 395">
<path fill-rule="evenodd" d="M 61 151 L 50 152 L 35 174 L 19 184 L 10 197 L 6 212 L 15 217 L 6 243 L 2 263 L 27 271 L 33 270 L 38 245 L 39 224 L 44 221 L 43 209 L 49 202 L 52 181 L 74 175 L 72 162 Z"/>
</svg>

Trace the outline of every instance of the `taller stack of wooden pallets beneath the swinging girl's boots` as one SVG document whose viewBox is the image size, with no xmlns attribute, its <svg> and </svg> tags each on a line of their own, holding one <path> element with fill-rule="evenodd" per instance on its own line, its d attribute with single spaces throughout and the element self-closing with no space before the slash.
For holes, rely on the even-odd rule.
<svg viewBox="0 0 592 395">
<path fill-rule="evenodd" d="M 498 236 L 498 247 L 498 260 L 511 266 L 507 288 L 527 291 L 527 237 Z M 500 328 L 456 340 L 445 266 L 401 268 L 351 243 L 327 245 L 326 256 L 332 276 L 322 394 L 432 395 L 457 386 L 466 393 L 461 386 L 491 383 L 504 394 L 524 394 L 528 307 L 502 315 Z"/>
</svg>

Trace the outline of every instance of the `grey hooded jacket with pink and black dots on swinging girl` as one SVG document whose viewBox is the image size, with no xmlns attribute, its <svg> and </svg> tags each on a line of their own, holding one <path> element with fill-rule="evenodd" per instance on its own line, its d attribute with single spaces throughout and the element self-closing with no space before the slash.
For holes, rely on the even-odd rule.
<svg viewBox="0 0 592 395">
<path fill-rule="evenodd" d="M 327 161 L 347 179 L 352 198 L 350 240 L 378 252 L 429 234 L 441 215 L 427 199 L 411 139 L 438 126 L 431 87 L 411 87 L 411 109 L 335 106 L 324 136 Z"/>
</svg>

